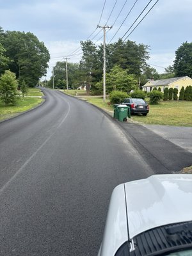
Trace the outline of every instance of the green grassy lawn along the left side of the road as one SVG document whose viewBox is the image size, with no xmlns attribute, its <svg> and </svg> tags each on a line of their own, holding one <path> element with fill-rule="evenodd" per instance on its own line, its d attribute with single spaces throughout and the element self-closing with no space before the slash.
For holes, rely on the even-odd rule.
<svg viewBox="0 0 192 256">
<path fill-rule="evenodd" d="M 34 95 L 35 94 L 35 95 Z M 28 96 L 41 96 L 39 89 L 29 89 Z M 0 100 L 0 120 L 11 118 L 19 113 L 27 111 L 31 108 L 35 108 L 38 104 L 42 102 L 43 99 L 40 98 L 31 98 L 31 97 L 20 97 L 15 106 L 5 106 L 4 102 Z"/>
</svg>

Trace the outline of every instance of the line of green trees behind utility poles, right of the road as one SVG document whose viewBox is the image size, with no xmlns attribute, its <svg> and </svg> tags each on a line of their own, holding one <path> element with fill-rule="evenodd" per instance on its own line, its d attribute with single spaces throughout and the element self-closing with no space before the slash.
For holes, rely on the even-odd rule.
<svg viewBox="0 0 192 256">
<path fill-rule="evenodd" d="M 68 86 L 77 88 L 86 86 L 92 94 L 102 93 L 103 46 L 95 45 L 91 40 L 81 42 L 83 52 L 79 63 L 68 63 Z M 149 79 L 168 79 L 180 76 L 192 76 L 192 43 L 185 42 L 175 52 L 173 66 L 165 68 L 159 74 L 147 64 L 149 46 L 127 40 L 118 40 L 106 45 L 106 92 L 113 90 L 130 92 L 141 88 Z M 66 88 L 66 62 L 58 61 L 54 67 L 54 84 Z M 51 77 L 48 86 L 52 87 Z"/>
</svg>

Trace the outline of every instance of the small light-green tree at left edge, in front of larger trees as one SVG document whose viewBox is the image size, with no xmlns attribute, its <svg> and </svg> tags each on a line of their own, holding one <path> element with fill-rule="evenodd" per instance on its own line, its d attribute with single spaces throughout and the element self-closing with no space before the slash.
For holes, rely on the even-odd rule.
<svg viewBox="0 0 192 256">
<path fill-rule="evenodd" d="M 0 97 L 6 106 L 8 106 L 8 104 L 13 104 L 13 105 L 16 104 L 17 85 L 18 85 L 18 82 L 16 80 L 16 76 L 10 70 L 6 70 L 4 74 L 1 75 Z"/>
</svg>

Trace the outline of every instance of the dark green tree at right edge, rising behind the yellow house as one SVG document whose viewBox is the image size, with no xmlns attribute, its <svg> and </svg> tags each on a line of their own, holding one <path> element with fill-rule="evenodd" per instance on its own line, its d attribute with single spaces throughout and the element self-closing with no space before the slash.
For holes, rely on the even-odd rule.
<svg viewBox="0 0 192 256">
<path fill-rule="evenodd" d="M 192 77 L 192 43 L 183 43 L 175 52 L 175 76 Z"/>
</svg>

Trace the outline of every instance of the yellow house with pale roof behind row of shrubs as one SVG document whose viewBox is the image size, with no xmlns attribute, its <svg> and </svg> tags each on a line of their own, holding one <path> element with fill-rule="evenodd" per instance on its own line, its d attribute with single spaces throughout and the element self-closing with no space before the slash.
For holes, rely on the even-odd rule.
<svg viewBox="0 0 192 256">
<path fill-rule="evenodd" d="M 151 92 L 155 87 L 161 88 L 161 92 L 164 91 L 164 88 L 177 88 L 178 92 L 180 92 L 180 89 L 182 86 L 184 86 L 184 89 L 191 85 L 192 86 L 192 79 L 188 76 L 182 76 L 182 77 L 173 77 L 169 79 L 161 79 L 161 80 L 149 80 L 146 84 L 142 86 L 143 91 L 145 92 Z M 179 96 L 179 93 L 178 93 Z"/>
</svg>

